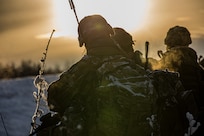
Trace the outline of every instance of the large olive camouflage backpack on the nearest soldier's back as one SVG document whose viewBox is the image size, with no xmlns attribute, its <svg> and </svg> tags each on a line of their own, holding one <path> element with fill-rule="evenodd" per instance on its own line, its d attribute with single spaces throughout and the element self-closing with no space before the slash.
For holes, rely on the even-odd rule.
<svg viewBox="0 0 204 136">
<path fill-rule="evenodd" d="M 154 94 L 143 67 L 125 57 L 113 57 L 104 60 L 97 73 L 96 129 L 102 129 L 105 136 L 151 135 Z"/>
</svg>

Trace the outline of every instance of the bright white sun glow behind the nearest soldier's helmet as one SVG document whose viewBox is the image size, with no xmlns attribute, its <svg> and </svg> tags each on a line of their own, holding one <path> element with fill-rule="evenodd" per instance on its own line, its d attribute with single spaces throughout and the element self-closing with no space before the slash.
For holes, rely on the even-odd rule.
<svg viewBox="0 0 204 136">
<path fill-rule="evenodd" d="M 145 24 L 149 0 L 101 1 L 74 0 L 78 19 L 91 14 L 100 14 L 113 27 L 122 27 L 128 31 L 140 29 Z M 53 0 L 53 25 L 55 36 L 77 36 L 77 21 L 68 0 Z"/>
</svg>

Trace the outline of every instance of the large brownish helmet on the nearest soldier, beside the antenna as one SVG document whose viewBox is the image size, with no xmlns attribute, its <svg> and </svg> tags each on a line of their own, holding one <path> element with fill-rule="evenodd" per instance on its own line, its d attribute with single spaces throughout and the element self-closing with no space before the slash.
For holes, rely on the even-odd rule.
<svg viewBox="0 0 204 136">
<path fill-rule="evenodd" d="M 84 17 L 78 26 L 78 40 L 80 47 L 90 41 L 110 37 L 113 34 L 112 27 L 101 15 Z"/>
</svg>

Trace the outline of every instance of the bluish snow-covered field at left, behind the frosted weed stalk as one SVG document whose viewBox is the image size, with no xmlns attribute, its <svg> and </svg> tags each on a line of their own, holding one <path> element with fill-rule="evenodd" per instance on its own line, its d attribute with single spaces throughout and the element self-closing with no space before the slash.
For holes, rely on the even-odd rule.
<svg viewBox="0 0 204 136">
<path fill-rule="evenodd" d="M 36 106 L 33 97 L 33 92 L 37 91 L 33 85 L 34 78 L 0 80 L 0 136 L 29 135 Z M 45 76 L 48 83 L 57 78 L 58 75 Z"/>
</svg>

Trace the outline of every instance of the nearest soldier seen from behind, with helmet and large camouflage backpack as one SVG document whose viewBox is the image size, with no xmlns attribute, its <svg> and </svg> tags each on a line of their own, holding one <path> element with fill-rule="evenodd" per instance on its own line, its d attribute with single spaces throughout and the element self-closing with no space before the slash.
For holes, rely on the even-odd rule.
<svg viewBox="0 0 204 136">
<path fill-rule="evenodd" d="M 100 15 L 84 17 L 78 34 L 87 55 L 49 86 L 48 105 L 58 113 L 60 123 L 48 132 L 54 136 L 152 134 L 153 86 L 146 71 L 127 55 L 133 51 L 132 42 L 128 50 L 117 45 L 114 30 Z"/>
</svg>

